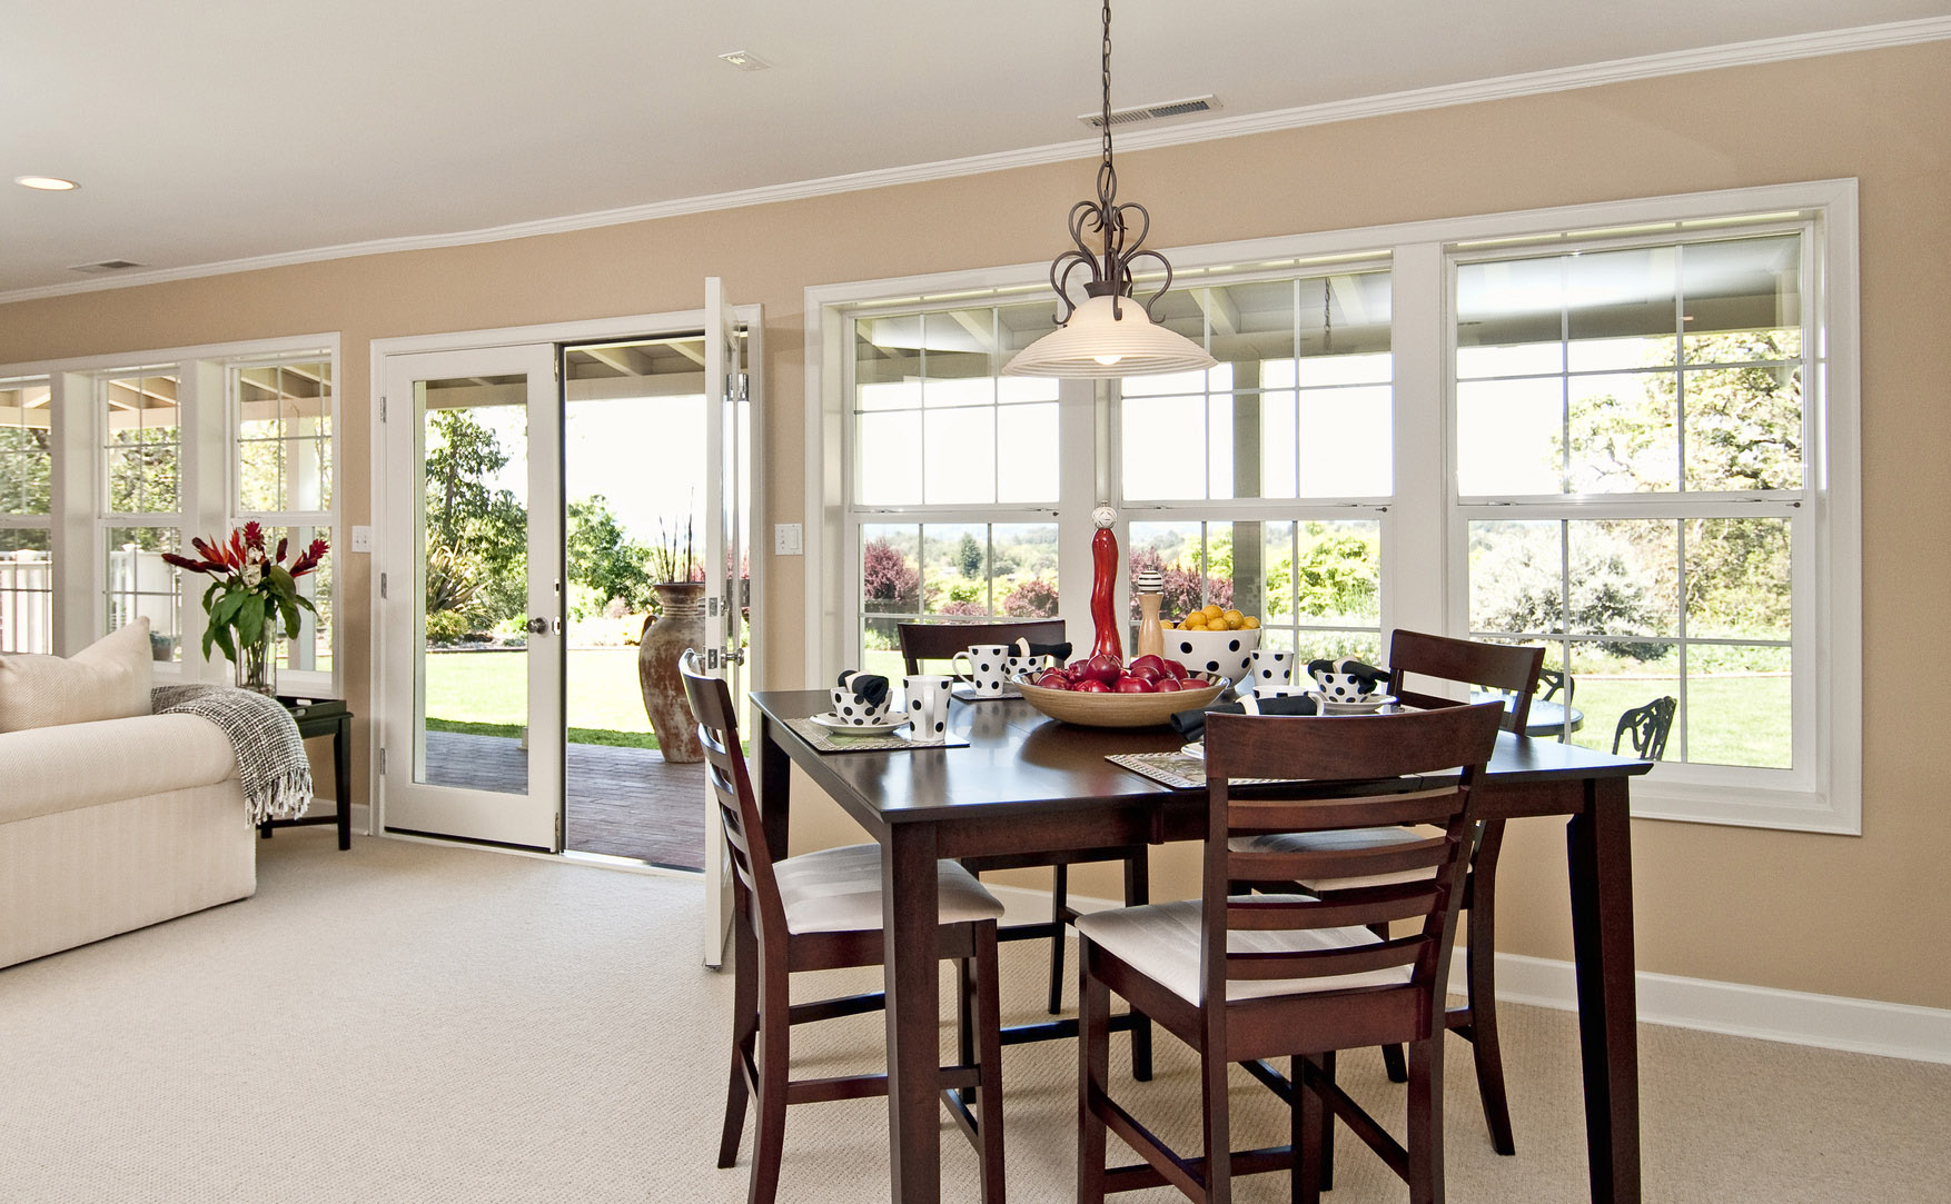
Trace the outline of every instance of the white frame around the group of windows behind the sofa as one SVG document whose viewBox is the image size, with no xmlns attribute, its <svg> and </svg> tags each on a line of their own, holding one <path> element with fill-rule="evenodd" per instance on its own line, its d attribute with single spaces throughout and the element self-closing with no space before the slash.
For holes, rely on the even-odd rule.
<svg viewBox="0 0 1951 1204">
<path fill-rule="evenodd" d="M 55 562 L 55 652 L 72 656 L 107 634 L 107 548 L 101 533 L 107 527 L 144 525 L 105 517 L 107 505 L 107 431 L 98 404 L 96 382 L 103 377 L 127 375 L 137 369 L 172 365 L 178 377 L 178 421 L 181 439 L 181 511 L 172 525 L 178 546 L 191 537 L 217 535 L 230 529 L 234 474 L 234 437 L 230 425 L 226 367 L 238 359 L 265 355 L 330 359 L 334 382 L 339 369 L 339 336 L 300 334 L 289 338 L 250 340 L 232 343 L 199 343 L 189 347 L 152 347 L 115 355 L 82 355 L 31 363 L 0 365 L 0 379 L 47 377 L 51 398 L 51 431 L 55 449 L 55 490 L 49 515 L 51 556 Z M 338 404 L 338 396 L 334 396 Z M 339 416 L 332 429 L 332 470 L 343 464 Z M 137 515 L 140 517 L 140 515 Z M 339 480 L 334 476 L 330 509 L 330 542 L 341 554 Z M 343 580 L 343 578 L 339 578 Z M 203 591 L 195 582 L 183 583 L 183 660 L 178 665 L 156 665 L 158 681 L 228 681 L 230 665 L 222 654 L 203 658 L 199 624 Z M 306 697 L 343 697 L 343 624 L 334 626 L 332 673 L 281 673 L 281 693 Z"/>
</svg>

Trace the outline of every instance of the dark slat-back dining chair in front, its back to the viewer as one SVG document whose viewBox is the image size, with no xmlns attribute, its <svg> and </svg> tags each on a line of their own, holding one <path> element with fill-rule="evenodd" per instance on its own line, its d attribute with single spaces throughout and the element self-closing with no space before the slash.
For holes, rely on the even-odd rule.
<svg viewBox="0 0 1951 1204">
<path fill-rule="evenodd" d="M 1500 702 L 1333 718 L 1206 720 L 1206 847 L 1198 900 L 1096 911 L 1081 937 L 1077 1200 L 1173 1184 L 1229 1204 L 1233 1177 L 1290 1173 L 1295 1200 L 1333 1184 L 1334 1118 L 1409 1183 L 1444 1196 L 1444 989 L 1475 829 L 1473 792 L 1496 743 Z M 1428 786 L 1418 775 L 1448 775 Z M 1243 798 L 1231 781 L 1307 783 Z M 1422 825 L 1411 843 L 1338 843 L 1374 825 Z M 1434 825 L 1434 827 L 1430 827 Z M 1319 837 L 1270 851 L 1264 835 Z M 1309 894 L 1231 894 L 1231 882 L 1307 880 Z M 1379 937 L 1368 925 L 1409 921 Z M 1110 993 L 1200 1056 L 1204 1151 L 1173 1151 L 1110 1095 Z M 1407 1147 L 1334 1083 L 1334 1052 L 1407 1042 Z M 1286 1077 L 1270 1060 L 1288 1058 Z M 1243 1064 L 1290 1104 L 1292 1151 L 1231 1149 L 1227 1071 Z M 1106 1132 L 1143 1163 L 1108 1169 Z"/>
</svg>

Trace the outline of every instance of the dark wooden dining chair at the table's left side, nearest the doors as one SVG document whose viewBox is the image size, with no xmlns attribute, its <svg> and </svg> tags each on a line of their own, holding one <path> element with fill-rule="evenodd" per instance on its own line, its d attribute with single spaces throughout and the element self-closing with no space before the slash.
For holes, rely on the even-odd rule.
<svg viewBox="0 0 1951 1204">
<path fill-rule="evenodd" d="M 704 777 L 718 802 L 732 859 L 734 905 L 749 923 L 734 958 L 732 1079 L 726 1087 L 718 1165 L 737 1163 L 745 1101 L 757 1101 L 749 1204 L 778 1196 L 786 1106 L 888 1095 L 886 1075 L 790 1077 L 792 1026 L 878 1011 L 880 991 L 792 1003 L 788 978 L 800 970 L 880 966 L 884 956 L 880 845 L 802 853 L 775 863 L 753 798 L 737 718 L 724 679 L 704 673 L 697 652 L 681 662 L 685 697 L 698 720 Z M 976 1145 L 983 1204 L 1003 1204 L 1003 1044 L 995 921 L 1003 903 L 976 874 L 940 863 L 936 894 L 940 950 L 958 964 L 962 1048 L 974 1058 L 942 1067 L 942 1103 Z M 749 954 L 749 956 L 747 956 Z M 974 1023 L 970 1017 L 974 1013 Z M 974 1034 L 968 1028 L 974 1026 Z M 977 1110 L 970 1112 L 974 1089 Z"/>
</svg>

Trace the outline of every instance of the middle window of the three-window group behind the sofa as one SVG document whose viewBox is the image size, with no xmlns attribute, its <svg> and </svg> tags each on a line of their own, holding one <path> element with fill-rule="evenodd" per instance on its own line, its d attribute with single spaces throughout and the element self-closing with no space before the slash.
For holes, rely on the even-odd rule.
<svg viewBox="0 0 1951 1204">
<path fill-rule="evenodd" d="M 183 529 L 179 381 L 174 365 L 96 379 L 103 628 L 148 619 L 158 662 L 183 660 L 181 582 L 162 560 L 164 552 L 179 550 Z"/>
</svg>

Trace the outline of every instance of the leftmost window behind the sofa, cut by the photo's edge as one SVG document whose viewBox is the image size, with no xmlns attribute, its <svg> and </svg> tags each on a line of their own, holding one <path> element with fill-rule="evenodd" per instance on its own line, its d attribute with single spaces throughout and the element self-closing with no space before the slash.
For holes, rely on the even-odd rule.
<svg viewBox="0 0 1951 1204">
<path fill-rule="evenodd" d="M 0 381 L 0 652 L 55 650 L 51 392 Z"/>
</svg>

